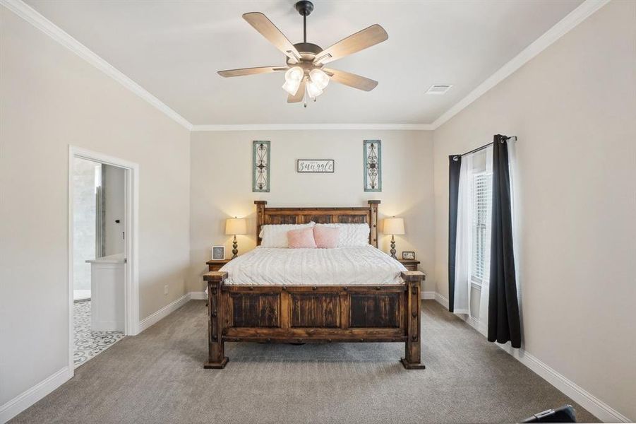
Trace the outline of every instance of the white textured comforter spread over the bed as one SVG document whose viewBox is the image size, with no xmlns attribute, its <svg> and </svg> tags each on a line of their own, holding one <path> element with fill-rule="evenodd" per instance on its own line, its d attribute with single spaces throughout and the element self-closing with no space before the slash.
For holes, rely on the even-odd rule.
<svg viewBox="0 0 636 424">
<path fill-rule="evenodd" d="M 380 285 L 402 284 L 399 261 L 376 247 L 280 249 L 257 247 L 229 261 L 227 284 Z"/>
</svg>

